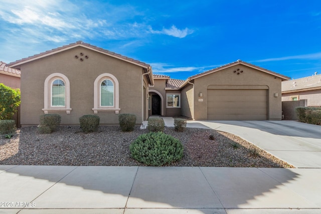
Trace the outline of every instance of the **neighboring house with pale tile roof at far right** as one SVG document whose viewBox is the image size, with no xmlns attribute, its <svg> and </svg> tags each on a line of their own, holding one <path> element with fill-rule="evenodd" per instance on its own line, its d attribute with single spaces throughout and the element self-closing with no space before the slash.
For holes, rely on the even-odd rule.
<svg viewBox="0 0 321 214">
<path fill-rule="evenodd" d="M 307 100 L 307 106 L 321 106 L 321 74 L 282 82 L 282 101 Z"/>
</svg>

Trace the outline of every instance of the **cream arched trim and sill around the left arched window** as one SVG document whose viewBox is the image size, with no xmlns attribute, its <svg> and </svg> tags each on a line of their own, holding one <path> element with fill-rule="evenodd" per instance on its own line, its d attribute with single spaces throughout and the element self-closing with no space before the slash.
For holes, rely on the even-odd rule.
<svg viewBox="0 0 321 214">
<path fill-rule="evenodd" d="M 53 83 L 56 80 L 61 80 L 65 85 L 64 105 L 53 105 Z M 46 78 L 44 86 L 44 108 L 42 110 L 45 114 L 48 114 L 49 111 L 66 111 L 67 114 L 70 114 L 70 111 L 72 110 L 70 108 L 70 82 L 65 75 L 53 73 Z"/>
</svg>

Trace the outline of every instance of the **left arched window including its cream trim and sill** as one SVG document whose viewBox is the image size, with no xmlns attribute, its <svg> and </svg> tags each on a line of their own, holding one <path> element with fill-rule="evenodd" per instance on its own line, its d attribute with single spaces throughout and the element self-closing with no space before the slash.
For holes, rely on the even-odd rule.
<svg viewBox="0 0 321 214">
<path fill-rule="evenodd" d="M 66 111 L 70 114 L 70 82 L 65 75 L 54 73 L 46 78 L 42 110 L 45 114 L 50 111 Z"/>
</svg>

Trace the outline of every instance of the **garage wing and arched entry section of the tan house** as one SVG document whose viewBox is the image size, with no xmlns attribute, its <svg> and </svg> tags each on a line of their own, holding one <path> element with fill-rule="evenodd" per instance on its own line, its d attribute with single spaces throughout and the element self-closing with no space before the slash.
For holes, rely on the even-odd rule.
<svg viewBox="0 0 321 214">
<path fill-rule="evenodd" d="M 289 77 L 238 60 L 186 81 L 164 75 L 154 75 L 154 79 L 154 86 L 149 87 L 151 115 L 161 112 L 195 120 L 280 120 L 281 82 Z"/>
</svg>

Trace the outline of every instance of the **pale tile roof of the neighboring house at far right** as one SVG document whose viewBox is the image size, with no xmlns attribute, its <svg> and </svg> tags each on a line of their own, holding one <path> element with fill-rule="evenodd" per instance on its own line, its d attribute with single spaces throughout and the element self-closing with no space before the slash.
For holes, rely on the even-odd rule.
<svg viewBox="0 0 321 214">
<path fill-rule="evenodd" d="M 282 82 L 282 92 L 305 91 L 321 88 L 321 74 Z"/>
</svg>

